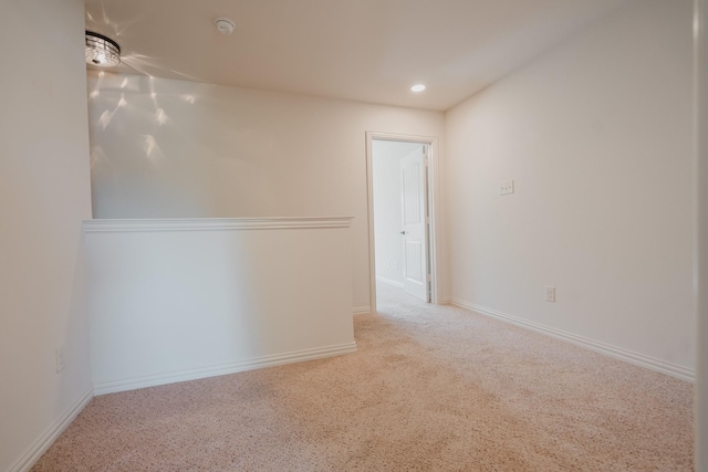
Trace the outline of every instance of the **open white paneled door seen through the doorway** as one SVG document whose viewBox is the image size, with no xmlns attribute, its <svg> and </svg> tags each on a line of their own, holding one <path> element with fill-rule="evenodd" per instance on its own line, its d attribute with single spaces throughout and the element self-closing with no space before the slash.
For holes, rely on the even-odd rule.
<svg viewBox="0 0 708 472">
<path fill-rule="evenodd" d="M 404 289 L 429 302 L 426 208 L 427 146 L 400 160 Z"/>
</svg>

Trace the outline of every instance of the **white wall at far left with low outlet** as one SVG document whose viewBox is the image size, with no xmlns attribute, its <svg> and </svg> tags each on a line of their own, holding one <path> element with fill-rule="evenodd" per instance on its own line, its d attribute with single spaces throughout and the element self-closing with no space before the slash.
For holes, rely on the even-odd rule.
<svg viewBox="0 0 708 472">
<path fill-rule="evenodd" d="M 84 2 L 0 2 L 0 470 L 29 468 L 91 398 Z M 56 347 L 65 369 L 56 374 Z"/>
</svg>

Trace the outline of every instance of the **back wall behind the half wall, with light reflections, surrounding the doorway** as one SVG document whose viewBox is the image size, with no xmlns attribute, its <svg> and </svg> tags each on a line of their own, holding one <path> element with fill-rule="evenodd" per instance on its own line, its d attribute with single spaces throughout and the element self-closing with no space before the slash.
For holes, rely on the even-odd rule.
<svg viewBox="0 0 708 472">
<path fill-rule="evenodd" d="M 94 218 L 353 216 L 369 305 L 365 132 L 440 136 L 437 112 L 88 75 Z"/>
</svg>

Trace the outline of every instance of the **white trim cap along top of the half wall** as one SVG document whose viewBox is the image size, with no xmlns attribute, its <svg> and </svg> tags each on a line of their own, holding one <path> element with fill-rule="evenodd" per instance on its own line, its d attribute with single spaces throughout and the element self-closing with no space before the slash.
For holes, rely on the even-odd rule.
<svg viewBox="0 0 708 472">
<path fill-rule="evenodd" d="M 84 221 L 84 231 L 100 233 L 348 228 L 352 219 L 353 217 L 106 219 Z"/>
</svg>

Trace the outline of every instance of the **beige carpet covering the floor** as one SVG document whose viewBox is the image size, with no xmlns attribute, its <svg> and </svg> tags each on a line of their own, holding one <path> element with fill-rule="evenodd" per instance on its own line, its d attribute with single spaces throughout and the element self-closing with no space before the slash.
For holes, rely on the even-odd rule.
<svg viewBox="0 0 708 472">
<path fill-rule="evenodd" d="M 693 386 L 379 287 L 358 352 L 94 398 L 34 471 L 689 471 Z"/>
</svg>

